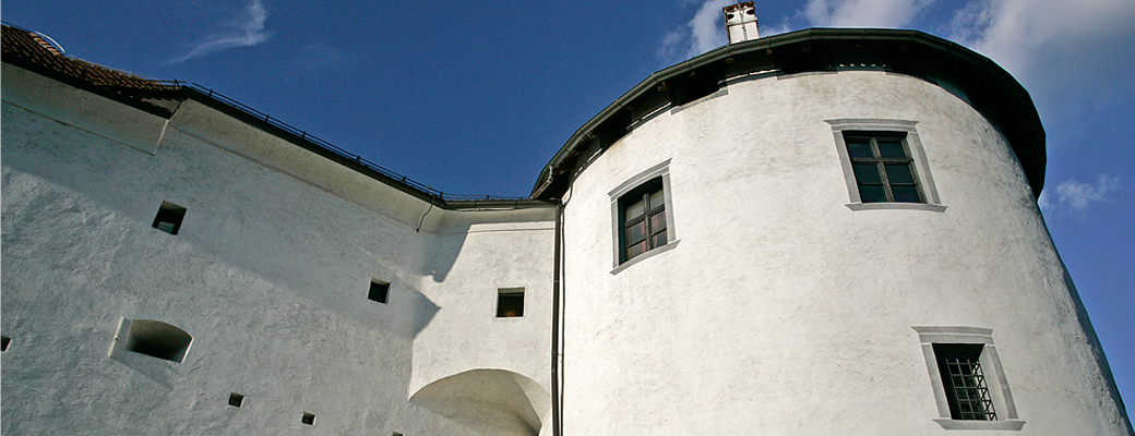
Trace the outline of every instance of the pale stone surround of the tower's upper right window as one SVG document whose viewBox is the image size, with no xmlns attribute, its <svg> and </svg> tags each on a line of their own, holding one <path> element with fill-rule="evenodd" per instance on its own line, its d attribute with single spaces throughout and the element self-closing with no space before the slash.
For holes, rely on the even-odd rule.
<svg viewBox="0 0 1135 436">
<path fill-rule="evenodd" d="M 938 188 L 934 187 L 934 178 L 931 176 L 930 164 L 926 162 L 926 152 L 923 149 L 922 140 L 918 139 L 918 131 L 915 130 L 915 125 L 918 121 L 881 118 L 840 118 L 824 120 L 824 122 L 832 126 L 832 134 L 835 137 L 835 149 L 840 156 L 840 166 L 843 169 L 843 180 L 847 183 L 848 197 L 851 199 L 851 203 L 847 204 L 848 208 L 852 211 L 945 211 L 945 206 L 942 205 L 941 199 L 938 197 Z M 859 197 L 859 187 L 856 185 L 855 171 L 851 169 L 851 157 L 848 155 L 847 143 L 843 140 L 843 131 L 905 132 L 906 139 L 903 143 L 907 145 L 907 151 L 910 152 L 910 157 L 914 160 L 915 173 L 926 196 L 926 203 L 863 203 Z"/>
</svg>

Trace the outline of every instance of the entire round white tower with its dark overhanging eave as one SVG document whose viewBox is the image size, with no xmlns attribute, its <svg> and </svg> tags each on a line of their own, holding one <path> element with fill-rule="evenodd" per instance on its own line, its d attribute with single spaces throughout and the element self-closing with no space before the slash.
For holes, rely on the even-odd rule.
<svg viewBox="0 0 1135 436">
<path fill-rule="evenodd" d="M 1129 434 L 1043 177 L 1027 92 L 923 33 L 651 75 L 533 191 L 564 204 L 563 434 Z"/>
</svg>

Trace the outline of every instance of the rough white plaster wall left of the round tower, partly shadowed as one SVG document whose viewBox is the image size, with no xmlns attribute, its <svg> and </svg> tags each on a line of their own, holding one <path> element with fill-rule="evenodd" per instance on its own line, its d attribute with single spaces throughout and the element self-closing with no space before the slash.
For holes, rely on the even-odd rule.
<svg viewBox="0 0 1135 436">
<path fill-rule="evenodd" d="M 428 203 L 193 101 L 166 125 L 8 65 L 3 86 L 3 434 L 546 428 L 553 208 L 434 208 L 418 231 Z M 177 236 L 150 225 L 163 200 Z M 526 288 L 524 318 L 485 307 L 498 285 Z M 191 334 L 185 361 L 111 356 L 123 318 Z M 480 370 L 514 382 L 462 392 Z"/>
</svg>

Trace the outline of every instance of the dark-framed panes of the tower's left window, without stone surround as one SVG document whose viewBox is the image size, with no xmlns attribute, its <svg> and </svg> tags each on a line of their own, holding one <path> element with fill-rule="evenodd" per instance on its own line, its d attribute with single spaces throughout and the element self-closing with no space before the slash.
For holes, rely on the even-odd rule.
<svg viewBox="0 0 1135 436">
<path fill-rule="evenodd" d="M 619 198 L 623 262 L 666 245 L 666 202 L 662 178 Z"/>
</svg>

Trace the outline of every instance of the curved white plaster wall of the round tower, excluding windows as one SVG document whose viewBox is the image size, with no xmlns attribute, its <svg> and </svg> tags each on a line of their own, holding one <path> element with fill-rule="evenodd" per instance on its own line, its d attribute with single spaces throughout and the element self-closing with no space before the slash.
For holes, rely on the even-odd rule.
<svg viewBox="0 0 1135 436">
<path fill-rule="evenodd" d="M 914 327 L 991 330 L 1020 434 L 1125 434 L 1024 172 L 964 97 L 738 80 L 591 154 L 564 195 L 564 434 L 940 434 Z M 849 206 L 848 119 L 913 123 L 944 210 Z M 611 193 L 665 162 L 667 249 L 615 268 Z"/>
</svg>

